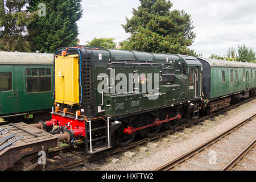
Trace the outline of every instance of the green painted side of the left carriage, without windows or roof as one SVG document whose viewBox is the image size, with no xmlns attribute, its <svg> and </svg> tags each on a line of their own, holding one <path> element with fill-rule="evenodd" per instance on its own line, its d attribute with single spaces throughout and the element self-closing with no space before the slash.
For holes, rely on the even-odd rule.
<svg viewBox="0 0 256 182">
<path fill-rule="evenodd" d="M 30 113 L 30 111 L 51 109 L 53 106 L 54 78 L 52 77 L 52 90 L 50 92 L 27 93 L 26 68 L 51 68 L 53 75 L 53 65 L 0 65 L 0 72 L 11 72 L 13 79 L 13 90 L 0 91 L 0 116 Z"/>
</svg>

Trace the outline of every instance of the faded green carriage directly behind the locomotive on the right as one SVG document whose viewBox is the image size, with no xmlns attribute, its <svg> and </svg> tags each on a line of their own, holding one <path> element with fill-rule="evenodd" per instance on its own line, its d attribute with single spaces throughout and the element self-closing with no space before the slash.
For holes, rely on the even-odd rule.
<svg viewBox="0 0 256 182">
<path fill-rule="evenodd" d="M 216 59 L 201 59 L 204 101 L 218 110 L 230 101 L 247 98 L 256 88 L 256 64 Z M 225 98 L 226 102 L 219 102 Z M 213 103 L 211 103 L 213 102 Z"/>
</svg>

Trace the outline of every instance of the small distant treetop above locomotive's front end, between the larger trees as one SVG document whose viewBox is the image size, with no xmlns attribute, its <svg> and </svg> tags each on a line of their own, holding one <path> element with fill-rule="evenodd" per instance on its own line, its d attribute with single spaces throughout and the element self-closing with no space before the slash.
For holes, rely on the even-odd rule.
<svg viewBox="0 0 256 182">
<path fill-rule="evenodd" d="M 94 38 L 91 42 L 88 42 L 86 46 L 103 47 L 105 49 L 115 49 L 117 45 L 114 43 L 113 38 Z"/>
</svg>

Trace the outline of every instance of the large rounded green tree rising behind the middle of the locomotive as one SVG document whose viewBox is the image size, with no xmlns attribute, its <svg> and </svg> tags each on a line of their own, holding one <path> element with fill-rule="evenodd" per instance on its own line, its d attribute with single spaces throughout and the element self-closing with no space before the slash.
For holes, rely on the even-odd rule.
<svg viewBox="0 0 256 182">
<path fill-rule="evenodd" d="M 191 15 L 183 10 L 170 11 L 170 1 L 139 1 L 141 6 L 138 10 L 133 9 L 133 17 L 126 18 L 126 24 L 122 24 L 125 31 L 131 34 L 121 43 L 122 49 L 191 55 L 193 52 L 188 46 L 196 38 Z"/>
</svg>

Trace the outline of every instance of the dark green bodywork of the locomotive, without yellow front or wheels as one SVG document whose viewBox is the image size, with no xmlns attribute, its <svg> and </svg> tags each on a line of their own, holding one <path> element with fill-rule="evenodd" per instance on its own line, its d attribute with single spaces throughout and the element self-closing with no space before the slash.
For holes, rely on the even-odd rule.
<svg viewBox="0 0 256 182">
<path fill-rule="evenodd" d="M 188 82 L 190 68 L 198 69 L 198 74 L 202 73 L 202 64 L 195 57 L 88 47 L 77 48 L 73 52 L 72 49 L 68 49 L 69 55 L 77 54 L 77 51 L 81 53 L 81 85 L 84 89 L 81 92 L 80 88 L 80 95 L 83 98 L 81 104 L 61 107 L 73 113 L 81 110 L 81 114 L 89 119 L 118 118 L 126 114 L 189 104 L 202 98 L 200 78 L 197 77 L 197 84 L 195 81 Z M 56 53 L 60 54 L 60 51 Z M 152 74 L 152 84 L 148 81 L 149 73 Z M 124 75 L 126 78 L 123 78 Z M 158 86 L 156 81 L 159 82 Z M 149 88 L 148 84 L 151 84 Z M 121 85 L 127 85 L 127 88 L 116 92 L 115 88 L 121 88 Z M 189 90 L 189 86 L 192 86 L 192 90 Z M 98 87 L 105 88 L 104 92 L 99 91 Z M 158 89 L 158 93 L 150 94 L 150 88 Z M 156 99 L 152 100 L 153 97 Z"/>
</svg>

